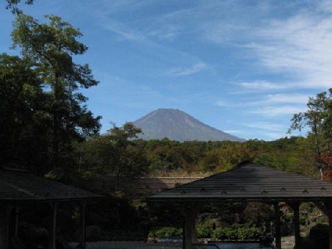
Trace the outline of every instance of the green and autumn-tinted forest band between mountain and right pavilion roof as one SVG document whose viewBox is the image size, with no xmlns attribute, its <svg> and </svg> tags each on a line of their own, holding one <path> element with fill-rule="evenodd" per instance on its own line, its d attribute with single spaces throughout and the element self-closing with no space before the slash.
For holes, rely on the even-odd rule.
<svg viewBox="0 0 332 249">
<path fill-rule="evenodd" d="M 150 161 L 151 176 L 181 171 L 193 175 L 223 172 L 243 160 L 308 176 L 319 175 L 311 138 L 183 143 L 164 139 L 142 141 L 142 144 Z"/>
</svg>

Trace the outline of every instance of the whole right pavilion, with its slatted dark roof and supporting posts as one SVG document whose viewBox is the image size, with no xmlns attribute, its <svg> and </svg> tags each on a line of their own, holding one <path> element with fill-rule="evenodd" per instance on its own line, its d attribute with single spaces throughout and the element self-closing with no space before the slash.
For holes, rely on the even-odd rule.
<svg viewBox="0 0 332 249">
<path fill-rule="evenodd" d="M 250 162 L 219 174 L 202 178 L 147 198 L 151 205 L 166 203 L 183 209 L 183 248 L 195 248 L 196 219 L 202 205 L 232 202 L 263 202 L 275 208 L 275 247 L 282 248 L 279 203 L 285 202 L 294 211 L 295 248 L 301 246 L 299 205 L 313 202 L 329 217 L 329 248 L 332 249 L 332 183 L 283 172 Z"/>
</svg>

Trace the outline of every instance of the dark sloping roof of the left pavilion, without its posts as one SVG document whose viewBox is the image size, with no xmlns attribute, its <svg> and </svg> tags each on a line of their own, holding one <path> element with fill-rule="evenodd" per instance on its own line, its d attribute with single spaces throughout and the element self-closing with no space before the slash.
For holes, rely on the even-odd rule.
<svg viewBox="0 0 332 249">
<path fill-rule="evenodd" d="M 24 170 L 0 169 L 0 201 L 69 201 L 99 197 Z"/>
</svg>

